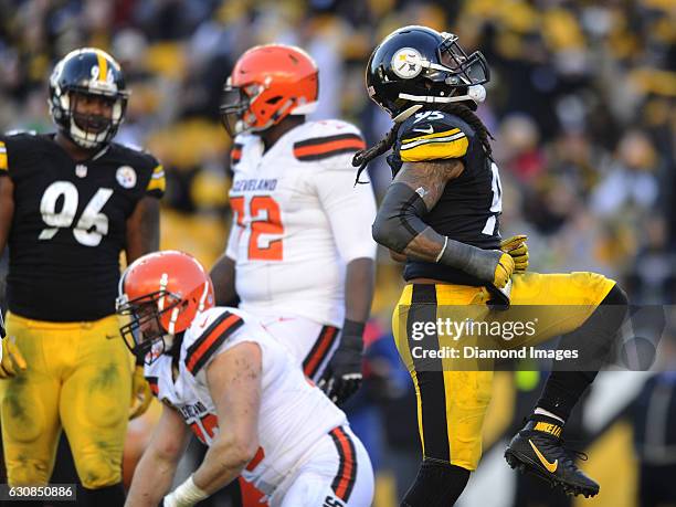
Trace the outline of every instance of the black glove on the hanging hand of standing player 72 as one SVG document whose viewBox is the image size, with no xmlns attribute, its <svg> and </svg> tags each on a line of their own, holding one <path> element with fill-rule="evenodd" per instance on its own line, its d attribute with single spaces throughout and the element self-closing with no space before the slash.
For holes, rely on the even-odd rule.
<svg viewBox="0 0 676 507">
<path fill-rule="evenodd" d="M 363 324 L 345 320 L 338 350 L 317 382 L 337 405 L 345 403 L 361 385 L 362 335 Z"/>
</svg>

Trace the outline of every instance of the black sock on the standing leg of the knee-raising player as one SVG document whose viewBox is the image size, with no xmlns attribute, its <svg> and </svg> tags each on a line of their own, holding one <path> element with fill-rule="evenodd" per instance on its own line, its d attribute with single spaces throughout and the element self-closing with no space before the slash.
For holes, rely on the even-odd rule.
<svg viewBox="0 0 676 507">
<path fill-rule="evenodd" d="M 423 460 L 401 507 L 450 507 L 469 480 L 469 471 L 437 460 Z"/>
</svg>

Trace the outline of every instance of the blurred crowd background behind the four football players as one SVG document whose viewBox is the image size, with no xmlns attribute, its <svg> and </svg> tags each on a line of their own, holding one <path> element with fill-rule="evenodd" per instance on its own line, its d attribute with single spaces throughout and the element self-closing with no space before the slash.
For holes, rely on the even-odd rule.
<svg viewBox="0 0 676 507">
<path fill-rule="evenodd" d="M 635 304 L 673 304 L 674 0 L 0 0 L 0 130 L 52 130 L 45 92 L 54 62 L 77 46 L 109 51 L 133 92 L 116 140 L 148 148 L 166 168 L 162 247 L 191 252 L 211 265 L 224 249 L 230 216 L 230 139 L 218 105 L 239 55 L 266 42 L 303 46 L 320 68 L 314 117 L 353 122 L 373 144 L 390 120 L 368 99 L 365 63 L 387 33 L 404 24 L 452 31 L 467 52 L 486 55 L 492 82 L 478 115 L 495 136 L 503 235 L 528 234 L 531 268 L 596 271 L 621 281 Z M 382 196 L 390 181 L 384 160 L 373 162 L 370 175 Z M 350 415 L 379 469 L 377 505 L 384 507 L 394 505 L 415 474 L 419 451 L 411 439 L 408 373 L 389 339 L 400 267 L 382 253 L 378 268 L 368 380 Z M 674 335 L 669 325 L 665 335 Z M 665 350 L 658 360 L 675 366 L 673 346 Z M 610 471 L 606 480 L 623 477 L 616 497 L 609 496 L 614 486 L 604 492 L 601 476 L 600 499 L 585 505 L 653 505 L 641 495 L 662 489 L 676 505 L 674 485 L 666 478 L 655 483 L 659 474 L 672 483 L 676 477 L 676 379 L 668 372 L 629 374 L 632 380 L 625 374 L 606 382 L 609 392 L 624 395 L 616 406 L 594 419 L 602 404 L 596 400 L 592 416 L 579 414 L 588 450 L 620 427 L 610 448 L 630 462 L 620 467 L 626 475 Z M 542 505 L 541 498 L 549 498 L 545 505 L 569 505 L 508 469 L 490 468 L 492 450 L 501 450 L 542 380 L 539 372 L 498 377 L 486 463 L 464 505 Z M 619 389 L 622 382 L 631 388 Z M 645 413 L 657 395 L 666 397 L 668 410 L 659 413 L 664 434 L 655 437 L 655 421 L 646 422 Z M 130 431 L 140 431 L 139 424 Z M 494 461 L 497 467 L 501 457 Z M 487 489 L 482 480 L 497 480 L 501 489 Z"/>
</svg>

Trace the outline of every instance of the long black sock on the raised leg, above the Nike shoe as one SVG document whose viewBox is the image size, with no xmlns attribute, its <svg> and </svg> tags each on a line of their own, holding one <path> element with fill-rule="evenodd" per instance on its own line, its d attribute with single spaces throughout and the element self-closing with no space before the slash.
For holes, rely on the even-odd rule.
<svg viewBox="0 0 676 507">
<path fill-rule="evenodd" d="M 561 339 L 560 348 L 578 349 L 584 365 L 595 368 L 591 371 L 552 371 L 536 406 L 563 421 L 568 420 L 580 397 L 596 378 L 599 366 L 611 351 L 626 315 L 627 303 L 624 291 L 614 285 L 587 321 Z"/>
</svg>

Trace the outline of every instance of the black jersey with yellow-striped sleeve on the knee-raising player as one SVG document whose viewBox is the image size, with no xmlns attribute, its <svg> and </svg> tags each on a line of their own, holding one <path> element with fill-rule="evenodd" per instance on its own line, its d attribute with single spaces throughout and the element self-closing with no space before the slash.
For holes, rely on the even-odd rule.
<svg viewBox="0 0 676 507">
<path fill-rule="evenodd" d="M 403 162 L 460 159 L 463 173 L 450 181 L 439 202 L 423 218 L 440 234 L 478 246 L 499 249 L 501 188 L 498 168 L 486 156 L 472 126 L 441 110 L 422 110 L 399 128 L 388 162 L 395 176 Z M 434 278 L 461 285 L 483 285 L 478 279 L 435 263 L 408 261 L 404 279 Z"/>
</svg>

